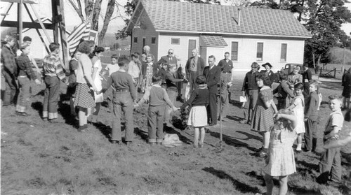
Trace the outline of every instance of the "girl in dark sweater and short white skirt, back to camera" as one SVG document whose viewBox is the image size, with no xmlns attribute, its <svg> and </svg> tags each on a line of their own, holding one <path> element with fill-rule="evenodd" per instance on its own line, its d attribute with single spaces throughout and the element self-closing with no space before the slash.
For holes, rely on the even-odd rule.
<svg viewBox="0 0 351 195">
<path fill-rule="evenodd" d="M 207 111 L 209 92 L 206 86 L 206 78 L 204 75 L 198 75 L 196 80 L 198 88 L 192 92 L 188 99 L 180 109 L 185 109 L 191 106 L 187 125 L 194 127 L 194 147 L 204 147 L 205 128 L 207 125 Z M 199 142 L 200 138 L 200 142 Z"/>
</svg>

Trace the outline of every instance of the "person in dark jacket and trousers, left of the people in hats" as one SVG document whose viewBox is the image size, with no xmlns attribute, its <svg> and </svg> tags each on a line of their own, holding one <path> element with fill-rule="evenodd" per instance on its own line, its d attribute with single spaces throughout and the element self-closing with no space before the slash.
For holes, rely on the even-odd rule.
<svg viewBox="0 0 351 195">
<path fill-rule="evenodd" d="M 240 123 L 251 124 L 251 115 L 253 113 L 253 108 L 256 106 L 258 97 L 258 87 L 256 83 L 256 75 L 260 74 L 258 72 L 258 69 L 260 69 L 260 65 L 258 65 L 256 62 L 253 62 L 251 64 L 251 71 L 245 75 L 241 91 L 242 96 L 246 96 L 247 102 L 245 103 L 245 106 L 248 108 L 249 112 L 244 109 L 244 119 L 241 120 Z"/>
</svg>

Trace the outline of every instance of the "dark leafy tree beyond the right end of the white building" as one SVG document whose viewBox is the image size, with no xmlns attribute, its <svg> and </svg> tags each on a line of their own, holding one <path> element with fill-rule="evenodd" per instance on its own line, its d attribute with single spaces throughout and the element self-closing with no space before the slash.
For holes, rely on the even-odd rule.
<svg viewBox="0 0 351 195">
<path fill-rule="evenodd" d="M 305 27 L 312 38 L 305 41 L 305 60 L 311 62 L 317 59 L 328 61 L 329 50 L 338 43 L 346 40 L 346 34 L 340 29 L 344 22 L 351 22 L 351 13 L 345 5 L 345 0 L 306 0 Z M 324 59 L 326 58 L 326 59 Z"/>
</svg>

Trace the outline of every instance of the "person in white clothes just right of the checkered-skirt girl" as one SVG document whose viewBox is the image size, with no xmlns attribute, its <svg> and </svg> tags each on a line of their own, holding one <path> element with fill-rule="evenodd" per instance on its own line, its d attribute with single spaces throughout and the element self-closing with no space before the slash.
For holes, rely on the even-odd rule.
<svg viewBox="0 0 351 195">
<path fill-rule="evenodd" d="M 98 92 L 100 92 L 102 90 L 102 77 L 100 75 L 100 72 L 102 70 L 102 66 L 101 66 L 101 57 L 102 57 L 102 52 L 104 52 L 105 49 L 102 47 L 97 47 L 95 48 L 94 52 L 93 52 L 93 58 L 91 59 L 91 62 L 93 63 L 93 82 L 95 84 L 96 89 L 98 90 Z M 101 103 L 104 101 L 104 96 L 103 94 L 96 94 L 96 92 L 94 92 L 94 97 L 95 97 L 95 111 L 93 112 L 93 116 L 92 116 L 92 123 L 97 122 L 98 120 L 98 114 L 100 111 L 100 106 Z"/>
</svg>

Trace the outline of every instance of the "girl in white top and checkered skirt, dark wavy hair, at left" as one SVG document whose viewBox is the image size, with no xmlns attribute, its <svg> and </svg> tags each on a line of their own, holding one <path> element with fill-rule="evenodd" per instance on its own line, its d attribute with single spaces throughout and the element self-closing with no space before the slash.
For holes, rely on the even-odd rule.
<svg viewBox="0 0 351 195">
<path fill-rule="evenodd" d="M 78 46 L 81 52 L 77 68 L 77 88 L 74 106 L 79 107 L 79 129 L 85 131 L 87 129 L 87 117 L 91 113 L 91 108 L 95 106 L 94 92 L 97 92 L 93 78 L 91 78 L 91 70 L 93 65 L 88 55 L 94 50 L 93 41 L 83 41 Z"/>
</svg>

